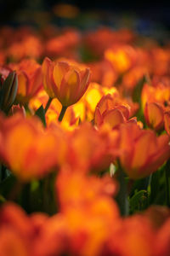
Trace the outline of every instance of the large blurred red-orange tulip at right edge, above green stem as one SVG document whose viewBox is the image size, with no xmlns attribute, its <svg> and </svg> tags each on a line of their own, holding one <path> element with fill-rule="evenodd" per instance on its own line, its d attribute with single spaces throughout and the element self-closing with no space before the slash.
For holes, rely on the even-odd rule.
<svg viewBox="0 0 170 256">
<path fill-rule="evenodd" d="M 168 159 L 169 137 L 156 137 L 154 131 L 140 130 L 136 124 L 120 127 L 120 161 L 127 175 L 133 179 L 149 176 Z"/>
</svg>

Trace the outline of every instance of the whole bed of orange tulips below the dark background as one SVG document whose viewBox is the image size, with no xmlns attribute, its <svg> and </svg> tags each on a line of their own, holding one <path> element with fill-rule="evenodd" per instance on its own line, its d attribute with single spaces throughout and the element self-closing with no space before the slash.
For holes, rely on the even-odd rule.
<svg viewBox="0 0 170 256">
<path fill-rule="evenodd" d="M 169 45 L 0 34 L 0 255 L 168 256 Z"/>
</svg>

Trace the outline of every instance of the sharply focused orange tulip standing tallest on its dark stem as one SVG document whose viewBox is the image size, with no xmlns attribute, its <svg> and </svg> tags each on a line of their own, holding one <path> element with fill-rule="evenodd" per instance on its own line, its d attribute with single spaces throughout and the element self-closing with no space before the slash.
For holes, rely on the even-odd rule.
<svg viewBox="0 0 170 256">
<path fill-rule="evenodd" d="M 57 97 L 65 107 L 75 104 L 88 89 L 90 71 L 81 70 L 65 61 L 42 63 L 44 89 L 51 98 Z"/>
</svg>

